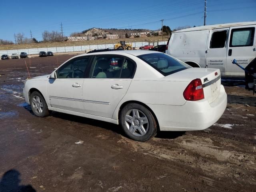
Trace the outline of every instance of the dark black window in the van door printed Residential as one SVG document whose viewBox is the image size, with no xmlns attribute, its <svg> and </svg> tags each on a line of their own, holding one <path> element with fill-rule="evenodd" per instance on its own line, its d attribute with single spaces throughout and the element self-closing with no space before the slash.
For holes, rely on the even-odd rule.
<svg viewBox="0 0 256 192">
<path fill-rule="evenodd" d="M 224 48 L 226 44 L 227 33 L 228 30 L 213 32 L 210 48 Z"/>
</svg>

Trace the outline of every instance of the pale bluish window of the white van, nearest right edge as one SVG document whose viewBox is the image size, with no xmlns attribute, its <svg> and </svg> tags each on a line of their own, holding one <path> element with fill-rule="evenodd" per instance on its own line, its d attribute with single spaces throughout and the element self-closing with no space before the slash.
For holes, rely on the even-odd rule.
<svg viewBox="0 0 256 192">
<path fill-rule="evenodd" d="M 254 27 L 232 29 L 230 36 L 230 47 L 253 46 Z"/>
</svg>

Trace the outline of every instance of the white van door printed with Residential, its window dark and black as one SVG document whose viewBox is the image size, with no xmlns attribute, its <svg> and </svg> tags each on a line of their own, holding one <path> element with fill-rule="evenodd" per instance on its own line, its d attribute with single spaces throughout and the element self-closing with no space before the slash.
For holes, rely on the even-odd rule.
<svg viewBox="0 0 256 192">
<path fill-rule="evenodd" d="M 211 30 L 207 46 L 206 65 L 222 73 L 226 70 L 228 31 L 229 28 Z"/>
</svg>

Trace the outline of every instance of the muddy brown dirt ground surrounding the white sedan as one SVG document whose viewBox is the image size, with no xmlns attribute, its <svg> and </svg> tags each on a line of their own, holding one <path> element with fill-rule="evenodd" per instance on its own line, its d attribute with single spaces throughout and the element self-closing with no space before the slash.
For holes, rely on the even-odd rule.
<svg viewBox="0 0 256 192">
<path fill-rule="evenodd" d="M 141 143 L 114 124 L 34 116 L 22 98 L 25 60 L 31 77 L 58 66 L 56 56 L 0 60 L 0 192 L 256 191 L 256 96 L 243 81 L 223 81 L 228 106 L 210 128 Z"/>
</svg>

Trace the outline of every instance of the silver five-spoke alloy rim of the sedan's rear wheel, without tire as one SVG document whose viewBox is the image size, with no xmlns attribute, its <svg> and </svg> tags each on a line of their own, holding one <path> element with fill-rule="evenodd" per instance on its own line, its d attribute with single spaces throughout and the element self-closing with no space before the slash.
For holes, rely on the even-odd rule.
<svg viewBox="0 0 256 192">
<path fill-rule="evenodd" d="M 126 128 L 134 136 L 144 136 L 148 132 L 148 118 L 141 110 L 129 110 L 124 121 Z"/>
</svg>

